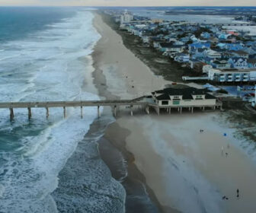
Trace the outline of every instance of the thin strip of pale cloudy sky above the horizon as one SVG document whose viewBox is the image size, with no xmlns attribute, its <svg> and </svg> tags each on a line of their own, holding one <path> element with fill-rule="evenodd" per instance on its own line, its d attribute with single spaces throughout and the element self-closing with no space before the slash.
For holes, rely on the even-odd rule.
<svg viewBox="0 0 256 213">
<path fill-rule="evenodd" d="M 255 0 L 0 0 L 1 6 L 256 6 Z"/>
</svg>

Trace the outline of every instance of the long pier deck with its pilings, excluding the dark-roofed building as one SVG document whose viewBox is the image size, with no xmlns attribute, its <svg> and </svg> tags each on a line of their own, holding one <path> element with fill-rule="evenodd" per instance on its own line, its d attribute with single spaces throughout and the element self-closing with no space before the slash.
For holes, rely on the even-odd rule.
<svg viewBox="0 0 256 213">
<path fill-rule="evenodd" d="M 0 103 L 0 109 L 9 109 L 10 110 L 10 120 L 14 119 L 14 109 L 27 108 L 28 119 L 32 117 L 32 108 L 45 108 L 46 109 L 46 118 L 50 116 L 50 108 L 62 107 L 63 116 L 66 118 L 66 108 L 67 107 L 80 107 L 81 118 L 83 118 L 83 107 L 86 106 L 97 106 L 98 107 L 98 117 L 100 117 L 100 107 L 101 106 L 110 106 L 113 109 L 114 116 L 117 116 L 117 106 L 128 106 L 130 108 L 130 114 L 133 116 L 133 106 L 141 106 L 146 110 L 146 113 L 149 114 L 149 108 L 152 107 L 155 109 L 158 115 L 160 110 L 165 108 L 169 113 L 171 113 L 170 107 L 158 106 L 151 96 L 138 97 L 132 100 L 73 100 L 73 101 L 39 101 L 39 102 L 2 102 Z M 193 109 L 199 107 L 200 109 L 205 109 L 205 107 L 216 108 L 222 107 L 222 102 L 217 101 L 215 106 L 171 106 L 171 108 L 178 109 L 178 112 L 182 112 L 182 108 L 188 108 L 191 113 Z M 192 110 L 191 110 L 192 109 Z"/>
</svg>

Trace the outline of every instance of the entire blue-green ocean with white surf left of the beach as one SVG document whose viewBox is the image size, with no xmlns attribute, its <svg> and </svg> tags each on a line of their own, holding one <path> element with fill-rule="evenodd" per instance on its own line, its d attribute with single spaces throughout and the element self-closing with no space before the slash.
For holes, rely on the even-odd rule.
<svg viewBox="0 0 256 213">
<path fill-rule="evenodd" d="M 99 100 L 92 20 L 85 8 L 0 8 L 0 101 Z M 85 137 L 97 109 L 79 113 L 37 109 L 29 121 L 21 109 L 10 122 L 0 110 L 0 212 L 124 211 L 123 186 L 98 154 L 103 132 Z"/>
</svg>

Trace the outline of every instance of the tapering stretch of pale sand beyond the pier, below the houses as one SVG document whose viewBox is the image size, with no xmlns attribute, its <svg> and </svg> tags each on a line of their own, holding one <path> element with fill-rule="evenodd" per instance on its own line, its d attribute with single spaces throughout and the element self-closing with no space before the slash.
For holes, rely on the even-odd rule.
<svg viewBox="0 0 256 213">
<path fill-rule="evenodd" d="M 107 90 L 121 98 L 139 97 L 170 81 L 156 78 L 149 67 L 123 46 L 122 38 L 95 14 L 94 26 L 101 33 L 97 45 L 98 66 L 104 71 Z"/>
</svg>

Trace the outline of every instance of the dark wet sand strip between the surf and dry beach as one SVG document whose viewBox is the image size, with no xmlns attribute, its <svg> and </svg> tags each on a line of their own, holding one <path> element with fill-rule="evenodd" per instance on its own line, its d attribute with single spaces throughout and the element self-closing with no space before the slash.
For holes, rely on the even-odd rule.
<svg viewBox="0 0 256 213">
<path fill-rule="evenodd" d="M 94 15 L 98 14 L 94 12 Z M 97 27 L 97 25 L 95 25 L 96 24 L 94 17 L 94 27 L 98 30 L 98 33 L 101 34 L 101 32 L 99 32 L 99 28 Z M 103 35 L 101 34 L 101 39 L 102 37 Z M 98 43 L 102 42 L 101 39 L 98 40 Z M 102 52 L 101 47 L 98 47 L 98 43 L 94 46 L 94 51 L 91 53 L 94 67 L 94 72 L 92 73 L 94 85 L 98 88 L 98 93 L 101 97 L 104 97 L 106 99 L 120 99 L 119 96 L 113 95 L 110 91 L 107 90 L 107 80 L 103 73 L 103 70 L 101 69 L 101 64 L 99 63 L 102 62 L 103 59 L 101 59 Z M 104 110 L 104 113 L 108 113 L 109 115 L 112 114 L 112 110 L 110 110 L 110 107 L 107 108 L 109 109 Z M 116 135 L 113 130 L 115 132 L 119 132 L 119 134 Z M 130 135 L 130 131 L 128 129 L 121 128 L 120 126 L 118 126 L 116 121 L 110 123 L 105 129 L 104 136 L 98 141 L 98 149 L 101 157 L 105 164 L 107 164 L 107 166 L 110 168 L 112 176 L 114 176 L 116 180 L 120 180 L 120 178 L 122 179 L 121 184 L 123 185 L 124 189 L 126 189 L 126 212 L 159 212 L 159 208 L 162 208 L 161 205 L 158 203 L 158 200 L 155 198 L 152 190 L 149 188 L 149 186 L 146 185 L 145 176 L 143 176 L 142 173 L 139 172 L 139 170 L 136 168 L 136 165 L 133 163 L 133 154 L 125 148 L 125 141 L 128 135 Z M 126 176 L 122 177 L 117 171 L 117 165 L 115 165 L 113 161 L 108 159 L 108 156 L 105 152 L 106 150 L 109 151 L 110 148 L 117 149 L 118 151 L 120 151 L 120 154 L 123 155 L 123 160 L 126 161 Z M 143 200 L 144 197 L 148 196 L 147 192 L 143 192 L 145 190 L 143 189 L 144 186 L 146 186 L 146 191 L 149 192 L 149 198 L 152 199 L 153 204 L 144 203 L 147 202 L 145 201 L 147 200 L 147 198 Z M 133 196 L 136 197 L 136 199 L 129 201 L 129 197 Z M 140 202 L 138 202 L 137 200 L 139 196 L 141 197 Z M 147 208 L 146 205 L 151 205 L 149 206 L 151 209 Z"/>
</svg>

